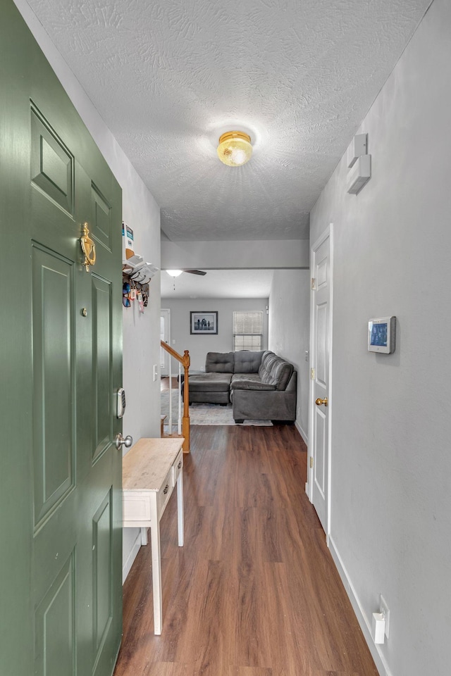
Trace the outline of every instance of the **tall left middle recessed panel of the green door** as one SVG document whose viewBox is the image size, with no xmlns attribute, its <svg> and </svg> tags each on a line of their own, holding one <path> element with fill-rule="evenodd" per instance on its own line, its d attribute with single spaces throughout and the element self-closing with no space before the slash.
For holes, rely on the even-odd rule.
<svg viewBox="0 0 451 676">
<path fill-rule="evenodd" d="M 33 243 L 35 528 L 75 484 L 73 268 Z"/>
</svg>

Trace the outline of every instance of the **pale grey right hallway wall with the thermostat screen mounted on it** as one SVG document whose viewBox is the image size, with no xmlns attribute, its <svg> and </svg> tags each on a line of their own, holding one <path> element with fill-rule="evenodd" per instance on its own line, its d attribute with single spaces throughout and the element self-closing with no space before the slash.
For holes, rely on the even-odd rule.
<svg viewBox="0 0 451 676">
<path fill-rule="evenodd" d="M 312 243 L 334 224 L 330 548 L 366 637 L 388 602 L 393 676 L 450 673 L 450 35 L 435 0 L 359 129 L 370 182 L 348 195 L 342 158 L 311 213 Z M 395 353 L 369 353 L 391 314 Z"/>
</svg>

